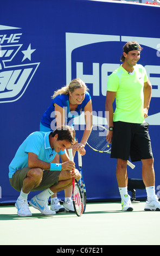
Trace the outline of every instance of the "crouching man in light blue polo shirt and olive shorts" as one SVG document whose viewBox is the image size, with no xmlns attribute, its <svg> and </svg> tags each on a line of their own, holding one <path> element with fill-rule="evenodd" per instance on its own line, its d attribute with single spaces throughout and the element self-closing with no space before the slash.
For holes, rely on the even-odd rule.
<svg viewBox="0 0 160 256">
<path fill-rule="evenodd" d="M 75 144 L 75 131 L 72 127 L 61 126 L 54 132 L 31 133 L 18 148 L 9 165 L 9 180 L 12 187 L 21 191 L 16 201 L 19 216 L 31 216 L 27 203 L 30 191 L 41 191 L 29 204 L 43 215 L 55 215 L 48 208 L 48 198 L 54 193 L 72 185 L 72 178 L 79 180 L 80 173 L 75 163 L 69 161 L 66 148 Z M 62 163 L 52 163 L 56 154 Z M 70 172 L 73 170 L 74 172 Z"/>
</svg>

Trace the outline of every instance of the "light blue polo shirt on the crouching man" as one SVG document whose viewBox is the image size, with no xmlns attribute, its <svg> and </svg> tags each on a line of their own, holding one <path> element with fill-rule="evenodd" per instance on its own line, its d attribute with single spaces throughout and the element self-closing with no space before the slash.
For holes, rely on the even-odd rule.
<svg viewBox="0 0 160 256">
<path fill-rule="evenodd" d="M 38 156 L 38 159 L 50 163 L 53 161 L 56 154 L 63 155 L 66 150 L 56 153 L 54 149 L 50 148 L 49 144 L 49 132 L 36 131 L 31 133 L 25 141 L 18 148 L 14 159 L 9 165 L 9 178 L 16 170 L 21 170 L 24 167 L 28 167 L 28 152 L 34 153 Z M 57 170 L 57 168 L 56 168 Z M 61 170 L 61 164 L 59 164 L 59 170 Z"/>
</svg>

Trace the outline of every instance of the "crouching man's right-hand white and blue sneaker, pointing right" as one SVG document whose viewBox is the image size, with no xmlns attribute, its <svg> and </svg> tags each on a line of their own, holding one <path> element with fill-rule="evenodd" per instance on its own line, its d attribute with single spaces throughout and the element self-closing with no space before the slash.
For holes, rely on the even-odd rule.
<svg viewBox="0 0 160 256">
<path fill-rule="evenodd" d="M 29 204 L 33 206 L 35 209 L 39 210 L 43 215 L 55 215 L 55 211 L 51 211 L 48 208 L 48 198 L 46 200 L 42 200 L 34 196 Z"/>
</svg>

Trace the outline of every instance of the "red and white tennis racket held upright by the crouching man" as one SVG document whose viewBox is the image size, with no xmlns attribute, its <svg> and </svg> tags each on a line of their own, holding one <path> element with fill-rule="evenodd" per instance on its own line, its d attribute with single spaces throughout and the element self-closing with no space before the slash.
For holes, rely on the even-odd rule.
<svg viewBox="0 0 160 256">
<path fill-rule="evenodd" d="M 68 149 L 69 159 L 73 161 L 72 149 Z M 83 203 L 82 203 L 82 194 L 80 190 L 80 186 L 76 179 L 72 179 L 72 200 L 74 211 L 76 215 L 79 217 L 83 213 Z"/>
</svg>

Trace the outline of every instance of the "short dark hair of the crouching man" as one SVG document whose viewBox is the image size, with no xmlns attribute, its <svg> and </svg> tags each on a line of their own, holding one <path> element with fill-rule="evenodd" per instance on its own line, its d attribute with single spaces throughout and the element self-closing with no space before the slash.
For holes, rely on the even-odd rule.
<svg viewBox="0 0 160 256">
<path fill-rule="evenodd" d="M 57 127 L 57 129 L 50 133 L 52 137 L 54 137 L 56 134 L 58 135 L 57 141 L 69 141 L 72 145 L 76 143 L 75 141 L 75 130 L 68 126 L 68 125 L 62 125 L 60 127 Z"/>
</svg>

